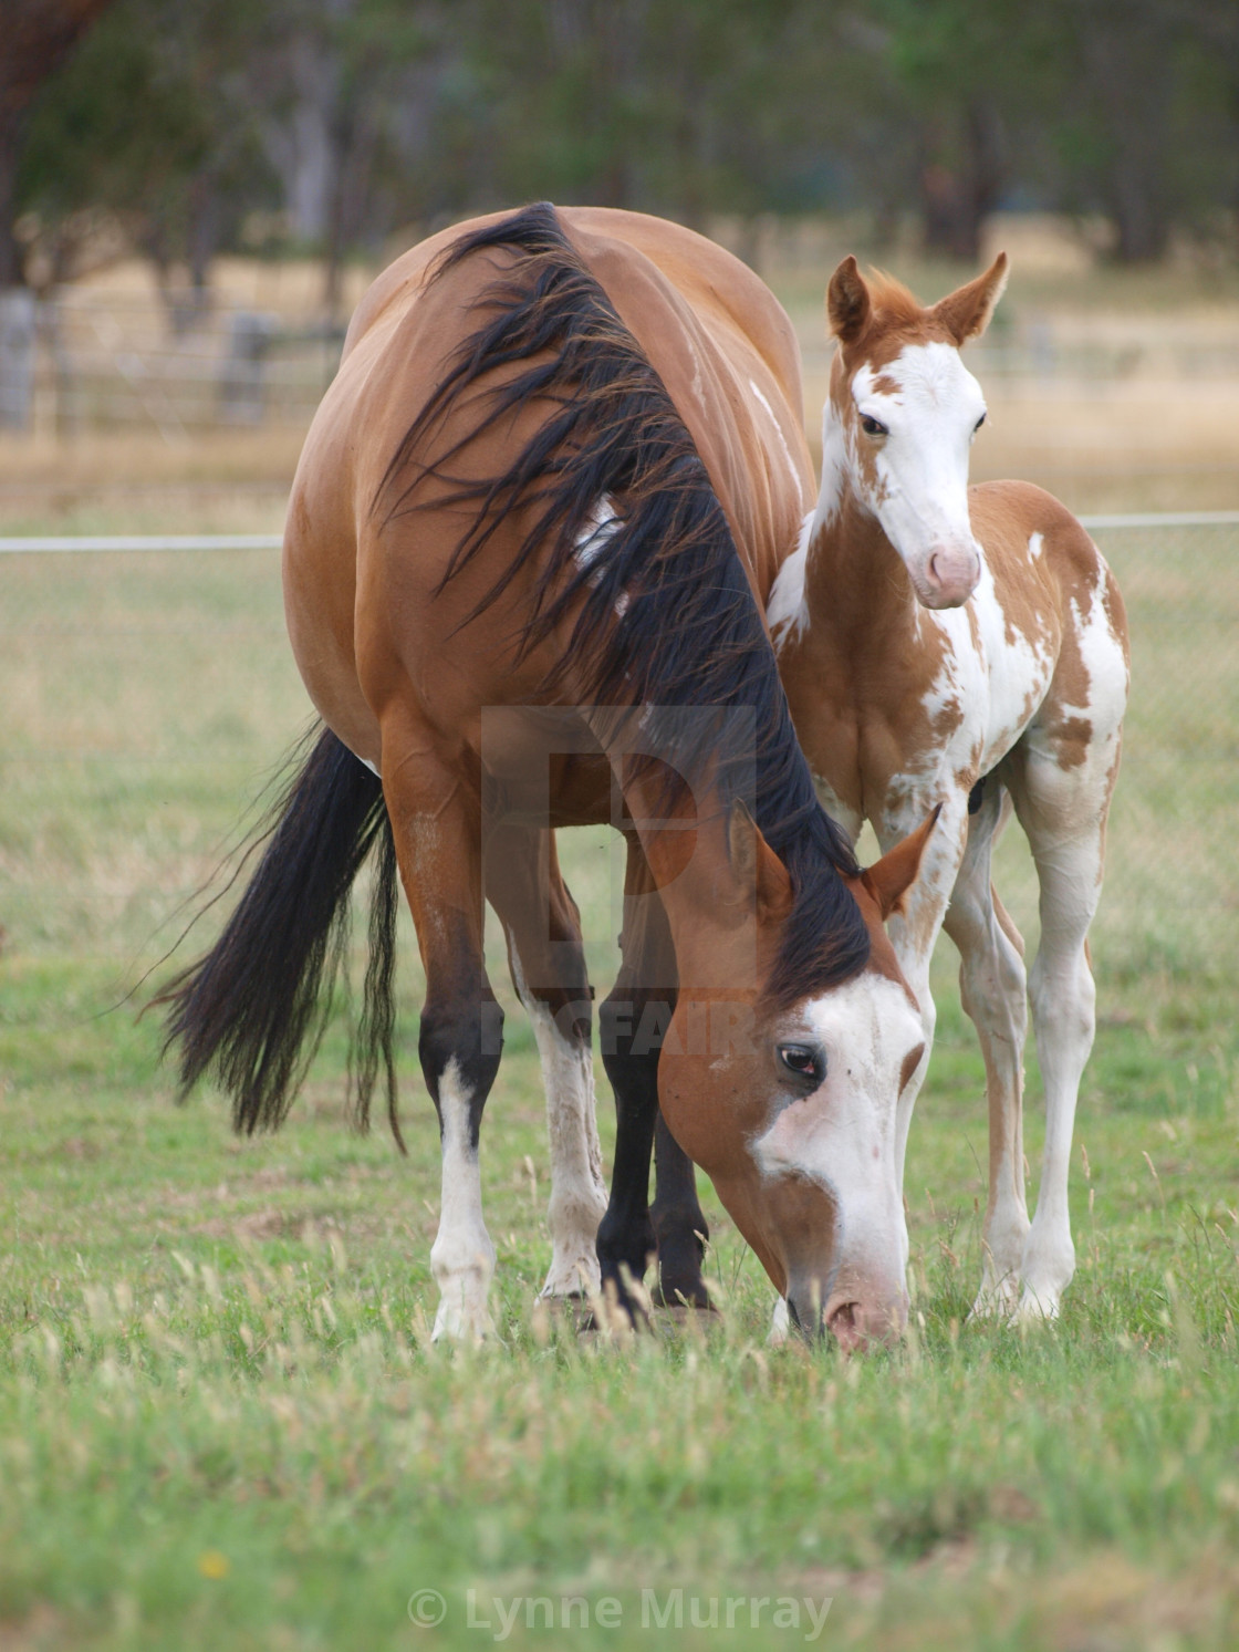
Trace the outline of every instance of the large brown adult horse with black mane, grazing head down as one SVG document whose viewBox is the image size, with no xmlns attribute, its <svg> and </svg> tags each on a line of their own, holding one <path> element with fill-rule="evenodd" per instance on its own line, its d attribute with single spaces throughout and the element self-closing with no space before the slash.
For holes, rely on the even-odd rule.
<svg viewBox="0 0 1239 1652">
<path fill-rule="evenodd" d="M 922 1028 L 882 920 L 928 828 L 861 872 L 796 745 L 758 601 L 811 499 L 786 317 L 740 263 L 631 213 L 532 206 L 434 236 L 354 317 L 289 504 L 289 633 L 325 729 L 216 947 L 165 995 L 182 1079 L 281 1120 L 340 919 L 378 846 L 358 1100 L 392 1100 L 398 869 L 426 971 L 439 1115 L 434 1332 L 487 1328 L 482 1107 L 497 912 L 552 1142 L 545 1290 L 598 1282 L 590 986 L 553 831 L 628 841 L 616 1092 L 598 1231 L 623 1294 L 648 1252 L 702 1300 L 691 1166 L 793 1315 L 857 1345 L 905 1315 L 895 1102 Z M 380 778 L 382 776 L 382 778 Z M 686 1175 L 687 1170 L 687 1175 Z M 656 1232 L 657 1229 L 657 1232 Z"/>
</svg>

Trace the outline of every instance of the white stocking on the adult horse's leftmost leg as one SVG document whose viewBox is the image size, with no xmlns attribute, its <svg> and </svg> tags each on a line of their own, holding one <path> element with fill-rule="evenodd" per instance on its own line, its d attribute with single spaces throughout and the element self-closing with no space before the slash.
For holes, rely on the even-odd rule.
<svg viewBox="0 0 1239 1652">
<path fill-rule="evenodd" d="M 430 1270 L 439 1287 L 433 1340 L 477 1341 L 492 1330 L 487 1297 L 496 1254 L 482 1221 L 482 1178 L 469 1140 L 471 1095 L 453 1057 L 439 1077 L 443 1196 Z"/>
</svg>

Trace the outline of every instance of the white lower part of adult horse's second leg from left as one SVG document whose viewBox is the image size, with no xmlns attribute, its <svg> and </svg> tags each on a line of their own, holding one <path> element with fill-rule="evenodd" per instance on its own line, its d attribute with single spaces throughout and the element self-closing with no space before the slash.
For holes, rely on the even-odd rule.
<svg viewBox="0 0 1239 1652">
<path fill-rule="evenodd" d="M 510 948 L 512 980 L 534 1023 L 547 1092 L 550 1138 L 550 1269 L 544 1297 L 591 1295 L 601 1289 L 598 1224 L 606 1214 L 603 1155 L 598 1145 L 593 1059 L 590 1046 L 568 1037 L 550 1008 L 535 998 L 524 978 L 515 945 Z"/>
</svg>

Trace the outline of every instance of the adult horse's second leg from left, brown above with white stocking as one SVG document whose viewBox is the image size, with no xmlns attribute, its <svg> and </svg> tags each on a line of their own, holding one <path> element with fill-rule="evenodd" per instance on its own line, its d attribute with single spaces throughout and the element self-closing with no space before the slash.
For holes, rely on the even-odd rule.
<svg viewBox="0 0 1239 1652">
<path fill-rule="evenodd" d="M 507 935 L 512 985 L 534 1023 L 547 1092 L 552 1257 L 542 1295 L 593 1294 L 606 1188 L 593 1099 L 591 990 L 555 834 L 507 823 L 487 833 L 486 894 Z"/>
</svg>

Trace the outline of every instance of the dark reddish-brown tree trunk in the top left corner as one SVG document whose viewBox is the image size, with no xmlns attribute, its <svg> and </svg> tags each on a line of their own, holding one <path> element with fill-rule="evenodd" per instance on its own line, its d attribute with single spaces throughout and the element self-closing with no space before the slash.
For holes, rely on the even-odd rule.
<svg viewBox="0 0 1239 1652">
<path fill-rule="evenodd" d="M 13 235 L 17 169 L 26 116 L 45 81 L 79 35 L 112 0 L 5 0 L 0 21 L 0 289 L 21 286 L 25 266 Z"/>
</svg>

